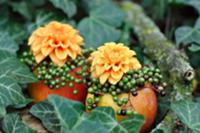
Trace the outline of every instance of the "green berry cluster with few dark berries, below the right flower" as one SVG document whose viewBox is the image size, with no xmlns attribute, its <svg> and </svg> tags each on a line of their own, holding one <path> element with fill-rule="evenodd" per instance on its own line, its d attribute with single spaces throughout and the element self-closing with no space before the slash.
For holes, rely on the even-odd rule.
<svg viewBox="0 0 200 133">
<path fill-rule="evenodd" d="M 146 83 L 150 83 L 157 93 L 164 96 L 164 88 L 167 84 L 162 82 L 162 79 L 163 77 L 160 69 L 149 66 L 143 66 L 139 70 L 127 72 L 116 85 L 111 85 L 109 82 L 101 85 L 98 79 L 90 77 L 87 79 L 87 85 L 90 86 L 88 88 L 88 93 L 94 95 L 94 100 L 87 100 L 87 108 L 92 109 L 92 107 L 96 107 L 98 100 L 95 99 L 99 99 L 104 93 L 111 94 L 115 103 L 118 106 L 123 106 L 128 102 L 128 99 L 120 99 L 118 95 L 122 93 L 131 93 L 133 96 L 137 96 L 137 91 Z"/>
</svg>

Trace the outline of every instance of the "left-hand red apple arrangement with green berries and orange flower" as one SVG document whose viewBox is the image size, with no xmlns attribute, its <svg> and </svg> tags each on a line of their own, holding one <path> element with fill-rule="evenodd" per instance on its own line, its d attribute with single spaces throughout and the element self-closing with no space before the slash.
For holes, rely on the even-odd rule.
<svg viewBox="0 0 200 133">
<path fill-rule="evenodd" d="M 49 94 L 84 102 L 88 75 L 83 38 L 69 24 L 52 21 L 33 31 L 29 38 L 30 51 L 21 61 L 30 66 L 38 82 L 29 85 L 30 96 L 36 101 Z"/>
</svg>

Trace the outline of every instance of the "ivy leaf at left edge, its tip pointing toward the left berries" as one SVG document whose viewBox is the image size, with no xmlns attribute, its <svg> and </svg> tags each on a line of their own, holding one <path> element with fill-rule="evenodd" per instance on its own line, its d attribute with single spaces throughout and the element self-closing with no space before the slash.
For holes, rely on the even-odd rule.
<svg viewBox="0 0 200 133">
<path fill-rule="evenodd" d="M 6 74 L 16 82 L 25 84 L 37 81 L 26 65 L 5 51 L 0 51 L 0 68 L 0 74 Z"/>
</svg>

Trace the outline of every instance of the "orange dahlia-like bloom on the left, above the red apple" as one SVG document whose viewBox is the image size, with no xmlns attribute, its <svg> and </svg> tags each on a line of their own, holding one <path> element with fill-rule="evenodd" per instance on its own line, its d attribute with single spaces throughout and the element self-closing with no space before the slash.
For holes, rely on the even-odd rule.
<svg viewBox="0 0 200 133">
<path fill-rule="evenodd" d="M 63 66 L 68 59 L 75 59 L 81 54 L 83 38 L 72 26 L 52 21 L 36 29 L 28 44 L 37 63 L 49 56 L 53 63 Z"/>
</svg>

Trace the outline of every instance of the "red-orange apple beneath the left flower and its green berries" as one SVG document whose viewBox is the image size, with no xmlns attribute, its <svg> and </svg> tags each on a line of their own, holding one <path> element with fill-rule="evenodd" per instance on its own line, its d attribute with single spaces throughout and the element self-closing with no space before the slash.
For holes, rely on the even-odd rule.
<svg viewBox="0 0 200 133">
<path fill-rule="evenodd" d="M 76 72 L 80 69 L 81 68 L 75 68 L 70 72 L 70 75 L 74 76 L 74 78 L 83 79 L 83 77 L 76 75 Z M 28 87 L 28 92 L 35 102 L 41 102 L 47 99 L 48 95 L 54 94 L 84 103 L 87 96 L 87 86 L 83 83 L 72 83 L 73 88 L 70 88 L 69 84 L 67 83 L 66 86 L 60 87 L 59 89 L 50 89 L 44 84 L 44 81 L 39 81 L 30 84 Z M 74 89 L 78 91 L 77 94 L 73 94 Z"/>
</svg>

